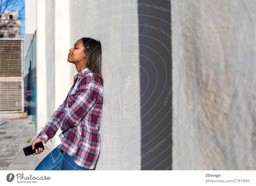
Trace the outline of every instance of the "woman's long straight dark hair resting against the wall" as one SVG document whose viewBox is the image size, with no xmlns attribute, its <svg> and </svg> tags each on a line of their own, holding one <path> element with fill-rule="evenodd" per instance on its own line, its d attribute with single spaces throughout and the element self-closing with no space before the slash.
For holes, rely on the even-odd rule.
<svg viewBox="0 0 256 186">
<path fill-rule="evenodd" d="M 87 54 L 84 69 L 86 66 L 96 74 L 100 78 L 103 86 L 103 78 L 101 75 L 101 43 L 90 37 L 82 37 L 81 39 L 84 45 L 84 53 Z"/>
</svg>

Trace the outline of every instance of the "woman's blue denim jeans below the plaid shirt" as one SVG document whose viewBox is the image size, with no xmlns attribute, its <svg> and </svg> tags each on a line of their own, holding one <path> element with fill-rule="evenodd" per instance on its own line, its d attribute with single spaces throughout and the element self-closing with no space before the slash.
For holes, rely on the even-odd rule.
<svg viewBox="0 0 256 186">
<path fill-rule="evenodd" d="M 64 136 L 65 134 L 66 132 Z M 76 154 L 69 156 L 57 146 L 37 165 L 35 170 L 89 170 L 73 163 L 75 156 Z"/>
</svg>

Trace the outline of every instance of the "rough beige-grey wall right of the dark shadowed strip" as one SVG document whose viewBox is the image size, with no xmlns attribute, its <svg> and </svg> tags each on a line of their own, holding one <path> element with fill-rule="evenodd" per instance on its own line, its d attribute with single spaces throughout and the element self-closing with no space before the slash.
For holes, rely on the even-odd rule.
<svg viewBox="0 0 256 186">
<path fill-rule="evenodd" d="M 255 1 L 171 7 L 173 170 L 255 170 Z"/>
</svg>

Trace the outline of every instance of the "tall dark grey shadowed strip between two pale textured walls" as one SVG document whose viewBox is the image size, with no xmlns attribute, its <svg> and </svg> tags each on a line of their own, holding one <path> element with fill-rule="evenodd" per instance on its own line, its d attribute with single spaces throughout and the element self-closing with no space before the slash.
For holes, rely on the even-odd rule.
<svg viewBox="0 0 256 186">
<path fill-rule="evenodd" d="M 141 170 L 172 170 L 170 1 L 138 0 Z"/>
</svg>

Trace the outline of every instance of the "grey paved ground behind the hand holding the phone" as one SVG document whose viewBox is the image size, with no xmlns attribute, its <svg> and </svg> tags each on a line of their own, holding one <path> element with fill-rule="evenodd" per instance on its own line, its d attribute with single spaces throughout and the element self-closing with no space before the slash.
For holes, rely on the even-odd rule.
<svg viewBox="0 0 256 186">
<path fill-rule="evenodd" d="M 37 136 L 35 125 L 29 122 L 30 118 L 0 120 L 0 170 L 34 170 L 51 152 L 45 148 L 41 154 L 25 156 L 23 147 L 31 145 Z"/>
</svg>

